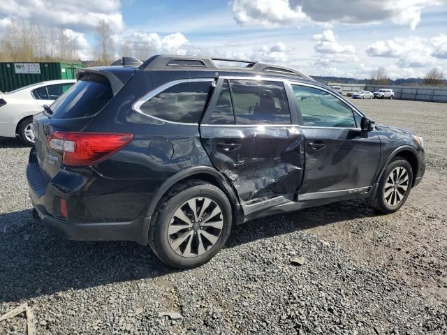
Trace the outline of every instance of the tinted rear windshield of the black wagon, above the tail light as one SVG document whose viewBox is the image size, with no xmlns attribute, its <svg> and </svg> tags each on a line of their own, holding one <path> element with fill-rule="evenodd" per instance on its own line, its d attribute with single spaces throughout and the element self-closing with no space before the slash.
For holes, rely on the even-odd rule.
<svg viewBox="0 0 447 335">
<path fill-rule="evenodd" d="M 112 99 L 112 89 L 102 75 L 85 75 L 51 105 L 54 119 L 89 117 Z"/>
</svg>

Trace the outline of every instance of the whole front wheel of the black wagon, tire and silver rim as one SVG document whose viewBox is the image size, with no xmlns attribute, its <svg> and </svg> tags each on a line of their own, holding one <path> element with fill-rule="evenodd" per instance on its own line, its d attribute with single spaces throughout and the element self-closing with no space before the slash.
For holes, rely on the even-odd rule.
<svg viewBox="0 0 447 335">
<path fill-rule="evenodd" d="M 413 185 L 413 170 L 402 157 L 395 157 L 386 167 L 379 181 L 379 187 L 370 204 L 384 214 L 394 213 L 408 198 Z"/>
</svg>

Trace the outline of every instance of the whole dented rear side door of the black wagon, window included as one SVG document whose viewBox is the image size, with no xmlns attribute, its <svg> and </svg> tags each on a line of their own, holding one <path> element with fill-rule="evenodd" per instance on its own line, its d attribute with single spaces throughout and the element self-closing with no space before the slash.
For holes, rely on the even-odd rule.
<svg viewBox="0 0 447 335">
<path fill-rule="evenodd" d="M 281 81 L 217 82 L 200 136 L 214 166 L 233 181 L 242 204 L 295 200 L 305 139 L 288 103 L 291 98 Z"/>
</svg>

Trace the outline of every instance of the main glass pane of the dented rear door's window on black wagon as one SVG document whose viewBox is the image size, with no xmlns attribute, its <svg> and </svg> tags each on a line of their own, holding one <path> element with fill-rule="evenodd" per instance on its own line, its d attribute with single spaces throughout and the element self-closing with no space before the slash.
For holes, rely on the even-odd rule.
<svg viewBox="0 0 447 335">
<path fill-rule="evenodd" d="M 291 124 L 282 82 L 230 80 L 237 124 Z"/>
</svg>

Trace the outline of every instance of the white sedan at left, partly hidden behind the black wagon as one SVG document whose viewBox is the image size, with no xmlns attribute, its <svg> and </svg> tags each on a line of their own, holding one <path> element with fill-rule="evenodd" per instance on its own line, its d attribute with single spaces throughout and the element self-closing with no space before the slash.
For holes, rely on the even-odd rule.
<svg viewBox="0 0 447 335">
<path fill-rule="evenodd" d="M 18 136 L 25 144 L 33 144 L 33 115 L 41 112 L 44 105 L 51 105 L 75 82 L 51 80 L 0 92 L 0 136 Z"/>
</svg>

